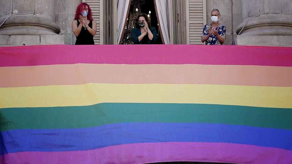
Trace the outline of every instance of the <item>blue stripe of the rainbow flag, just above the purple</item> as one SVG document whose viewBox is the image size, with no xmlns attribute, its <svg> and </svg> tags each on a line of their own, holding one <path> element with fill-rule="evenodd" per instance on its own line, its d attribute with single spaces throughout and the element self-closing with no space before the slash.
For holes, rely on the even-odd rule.
<svg viewBox="0 0 292 164">
<path fill-rule="evenodd" d="M 118 123 L 95 128 L 1 133 L 7 150 L 4 153 L 92 150 L 145 142 L 225 142 L 292 150 L 292 130 L 225 124 Z"/>
</svg>

